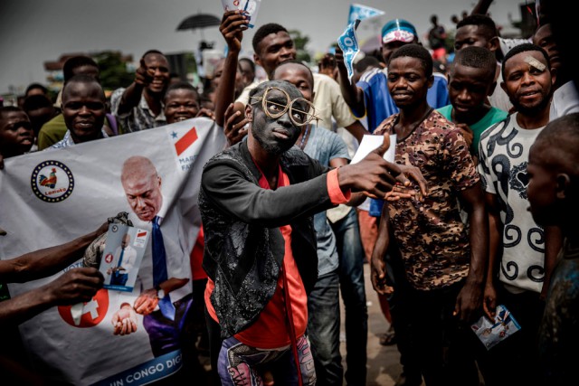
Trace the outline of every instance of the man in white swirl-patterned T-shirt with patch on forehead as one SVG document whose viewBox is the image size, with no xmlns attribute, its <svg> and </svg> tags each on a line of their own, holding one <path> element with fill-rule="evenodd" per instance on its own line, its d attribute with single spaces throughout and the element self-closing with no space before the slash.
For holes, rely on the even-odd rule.
<svg viewBox="0 0 579 386">
<path fill-rule="evenodd" d="M 483 375 L 488 384 L 538 385 L 542 380 L 528 369 L 539 366 L 536 334 L 561 235 L 556 227 L 537 225 L 527 211 L 527 163 L 529 148 L 549 122 L 555 74 L 546 52 L 525 43 L 505 55 L 502 78 L 517 113 L 480 137 L 490 230 L 484 306 L 491 318 L 496 306 L 506 306 L 521 329 L 493 347 Z"/>
</svg>

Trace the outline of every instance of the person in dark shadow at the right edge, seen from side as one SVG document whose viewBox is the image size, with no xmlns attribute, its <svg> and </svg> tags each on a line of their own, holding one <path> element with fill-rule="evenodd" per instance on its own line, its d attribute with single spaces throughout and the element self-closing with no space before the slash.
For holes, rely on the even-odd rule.
<svg viewBox="0 0 579 386">
<path fill-rule="evenodd" d="M 570 385 L 579 361 L 579 114 L 551 121 L 531 146 L 527 195 L 536 223 L 559 226 L 565 243 L 551 275 L 545 314 L 539 329 L 543 384 Z"/>
</svg>

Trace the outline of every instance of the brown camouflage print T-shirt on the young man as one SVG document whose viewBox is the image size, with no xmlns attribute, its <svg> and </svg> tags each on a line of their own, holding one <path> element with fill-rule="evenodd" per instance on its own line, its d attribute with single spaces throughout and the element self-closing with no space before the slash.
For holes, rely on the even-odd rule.
<svg viewBox="0 0 579 386">
<path fill-rule="evenodd" d="M 398 117 L 385 119 L 375 134 L 394 134 Z M 460 281 L 469 273 L 470 240 L 460 221 L 459 192 L 479 182 L 460 130 L 432 111 L 408 137 L 397 138 L 395 162 L 420 168 L 429 188 L 424 202 L 387 202 L 406 277 L 421 290 Z"/>
</svg>

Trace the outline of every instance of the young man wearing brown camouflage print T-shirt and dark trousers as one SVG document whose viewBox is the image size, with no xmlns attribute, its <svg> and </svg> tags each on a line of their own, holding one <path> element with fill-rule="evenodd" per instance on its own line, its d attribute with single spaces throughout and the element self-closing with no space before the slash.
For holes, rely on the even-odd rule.
<svg viewBox="0 0 579 386">
<path fill-rule="evenodd" d="M 479 316 L 488 219 L 479 174 L 460 129 L 428 104 L 432 82 L 432 56 L 421 45 L 406 44 L 390 57 L 388 89 L 400 113 L 375 133 L 396 135 L 396 163 L 420 167 L 429 194 L 384 204 L 372 284 L 379 293 L 389 292 L 384 255 L 390 247 L 391 259 L 397 252 L 405 271 L 405 280 L 396 279 L 392 309 L 394 324 L 407 329 L 401 352 L 429 385 L 478 385 L 463 332 L 471 333 L 460 327 Z M 418 195 L 415 189 L 411 192 Z M 469 213 L 468 232 L 458 199 Z M 415 376 L 413 384 L 420 384 Z"/>
</svg>

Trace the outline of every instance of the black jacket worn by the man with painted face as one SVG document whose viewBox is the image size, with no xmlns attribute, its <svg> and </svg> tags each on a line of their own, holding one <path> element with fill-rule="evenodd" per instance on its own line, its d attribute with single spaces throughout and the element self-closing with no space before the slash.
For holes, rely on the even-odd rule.
<svg viewBox="0 0 579 386">
<path fill-rule="evenodd" d="M 204 225 L 203 267 L 214 283 L 211 303 L 232 336 L 251 325 L 273 296 L 284 256 L 279 227 L 291 226 L 291 249 L 309 292 L 318 278 L 312 215 L 332 207 L 327 168 L 294 146 L 280 159 L 289 186 L 262 189 L 246 141 L 204 166 L 199 208 Z"/>
</svg>

